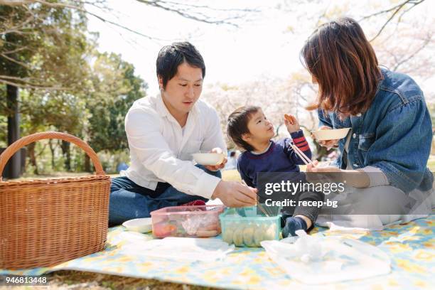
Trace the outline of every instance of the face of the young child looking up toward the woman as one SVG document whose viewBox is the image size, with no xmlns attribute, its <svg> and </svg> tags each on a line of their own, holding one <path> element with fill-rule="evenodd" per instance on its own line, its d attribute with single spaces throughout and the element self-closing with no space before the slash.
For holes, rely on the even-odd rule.
<svg viewBox="0 0 435 290">
<path fill-rule="evenodd" d="M 249 129 L 249 136 L 246 140 L 248 143 L 249 141 L 268 141 L 275 135 L 274 125 L 264 116 L 262 109 L 252 114 L 247 128 Z"/>
</svg>

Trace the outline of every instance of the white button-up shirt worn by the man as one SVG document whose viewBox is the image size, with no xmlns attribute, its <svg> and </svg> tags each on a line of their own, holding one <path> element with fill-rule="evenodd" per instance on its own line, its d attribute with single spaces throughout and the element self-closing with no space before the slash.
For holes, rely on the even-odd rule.
<svg viewBox="0 0 435 290">
<path fill-rule="evenodd" d="M 129 109 L 125 131 L 131 166 L 122 176 L 151 190 L 158 182 L 167 182 L 183 193 L 211 198 L 220 178 L 194 166 L 192 154 L 215 147 L 227 151 L 213 107 L 198 100 L 181 128 L 160 95 L 144 97 Z"/>
</svg>

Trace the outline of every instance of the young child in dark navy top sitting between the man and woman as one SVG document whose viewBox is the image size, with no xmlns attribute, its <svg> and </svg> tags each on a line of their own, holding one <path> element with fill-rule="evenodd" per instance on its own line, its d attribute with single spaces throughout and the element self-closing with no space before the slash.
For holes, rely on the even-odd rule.
<svg viewBox="0 0 435 290">
<path fill-rule="evenodd" d="M 294 144 L 311 159 L 310 147 L 296 118 L 287 115 L 284 123 Z M 237 160 L 237 170 L 248 186 L 257 187 L 259 172 L 299 172 L 298 164 L 304 164 L 291 149 L 291 139 L 272 140 L 274 125 L 264 116 L 260 107 L 240 107 L 232 112 L 228 117 L 227 134 L 240 149 L 245 150 Z M 323 201 L 324 198 L 320 192 L 296 194 L 299 201 Z M 292 215 L 284 214 L 283 237 L 296 235 L 296 230 L 311 230 L 319 210 L 317 207 L 296 206 Z"/>
</svg>

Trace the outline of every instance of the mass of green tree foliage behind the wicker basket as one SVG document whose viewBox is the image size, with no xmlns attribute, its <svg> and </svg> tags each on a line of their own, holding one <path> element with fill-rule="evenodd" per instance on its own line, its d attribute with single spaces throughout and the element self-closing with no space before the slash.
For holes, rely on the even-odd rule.
<svg viewBox="0 0 435 290">
<path fill-rule="evenodd" d="M 82 1 L 71 3 L 83 7 Z M 2 5 L 0 18 L 0 84 L 21 87 L 21 135 L 64 131 L 104 152 L 109 171 L 127 161 L 124 117 L 146 95 L 146 82 L 134 75 L 134 66 L 95 49 L 97 36 L 87 31 L 80 9 Z M 0 146 L 7 140 L 5 87 L 0 85 Z M 61 145 L 28 146 L 26 173 L 84 170 L 82 149 Z"/>
</svg>

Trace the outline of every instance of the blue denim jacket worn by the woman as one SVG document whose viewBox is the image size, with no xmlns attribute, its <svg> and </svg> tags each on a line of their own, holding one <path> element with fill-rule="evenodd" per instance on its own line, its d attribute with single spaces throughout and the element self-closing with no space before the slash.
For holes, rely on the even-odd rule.
<svg viewBox="0 0 435 290">
<path fill-rule="evenodd" d="M 367 112 L 340 120 L 335 112 L 318 110 L 320 126 L 333 129 L 352 127 L 348 159 L 354 169 L 380 168 L 390 185 L 405 193 L 413 189 L 429 190 L 433 176 L 426 168 L 432 142 L 429 110 L 411 77 L 384 68 L 375 98 Z M 345 168 L 343 149 L 337 161 Z"/>
</svg>

